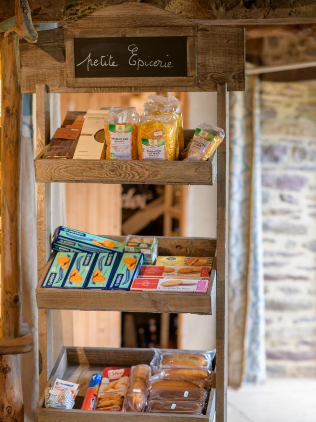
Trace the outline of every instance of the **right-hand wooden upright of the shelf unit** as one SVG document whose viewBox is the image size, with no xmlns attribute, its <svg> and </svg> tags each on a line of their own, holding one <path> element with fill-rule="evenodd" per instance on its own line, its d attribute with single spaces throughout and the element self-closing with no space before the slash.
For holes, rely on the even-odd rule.
<svg viewBox="0 0 316 422">
<path fill-rule="evenodd" d="M 226 422 L 229 158 L 227 84 L 218 85 L 217 87 L 217 126 L 225 130 L 225 139 L 217 149 L 216 422 Z"/>
</svg>

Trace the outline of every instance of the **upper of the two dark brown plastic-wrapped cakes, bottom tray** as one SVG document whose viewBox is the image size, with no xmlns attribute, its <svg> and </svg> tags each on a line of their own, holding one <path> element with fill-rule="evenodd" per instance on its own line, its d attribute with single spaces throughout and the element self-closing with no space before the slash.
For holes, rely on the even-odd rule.
<svg viewBox="0 0 316 422">
<path fill-rule="evenodd" d="M 155 388 L 150 391 L 149 400 L 194 401 L 204 405 L 206 397 L 204 388 Z"/>
</svg>

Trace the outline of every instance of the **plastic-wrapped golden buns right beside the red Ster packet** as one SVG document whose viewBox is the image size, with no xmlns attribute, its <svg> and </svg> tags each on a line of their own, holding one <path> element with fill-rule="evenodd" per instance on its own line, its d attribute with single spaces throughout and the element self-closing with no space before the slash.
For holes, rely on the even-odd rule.
<svg viewBox="0 0 316 422">
<path fill-rule="evenodd" d="M 150 375 L 150 366 L 132 366 L 130 371 L 129 386 L 124 400 L 123 411 L 144 412 L 147 403 Z"/>
</svg>

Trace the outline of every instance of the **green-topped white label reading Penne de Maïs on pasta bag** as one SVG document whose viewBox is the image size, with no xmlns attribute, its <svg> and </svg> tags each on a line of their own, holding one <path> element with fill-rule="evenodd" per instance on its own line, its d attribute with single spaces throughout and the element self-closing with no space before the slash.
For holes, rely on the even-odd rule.
<svg viewBox="0 0 316 422">
<path fill-rule="evenodd" d="M 132 131 L 131 125 L 109 125 L 111 159 L 131 160 Z"/>
</svg>

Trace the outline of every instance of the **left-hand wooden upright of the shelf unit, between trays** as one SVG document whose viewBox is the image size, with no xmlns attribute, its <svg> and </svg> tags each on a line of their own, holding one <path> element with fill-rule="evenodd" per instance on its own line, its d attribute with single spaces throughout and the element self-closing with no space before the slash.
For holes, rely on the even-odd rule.
<svg viewBox="0 0 316 422">
<path fill-rule="evenodd" d="M 46 85 L 36 85 L 37 154 L 50 140 L 49 93 Z M 51 252 L 50 184 L 37 183 L 38 277 Z M 40 396 L 53 368 L 52 315 L 39 309 L 39 376 Z"/>
</svg>

